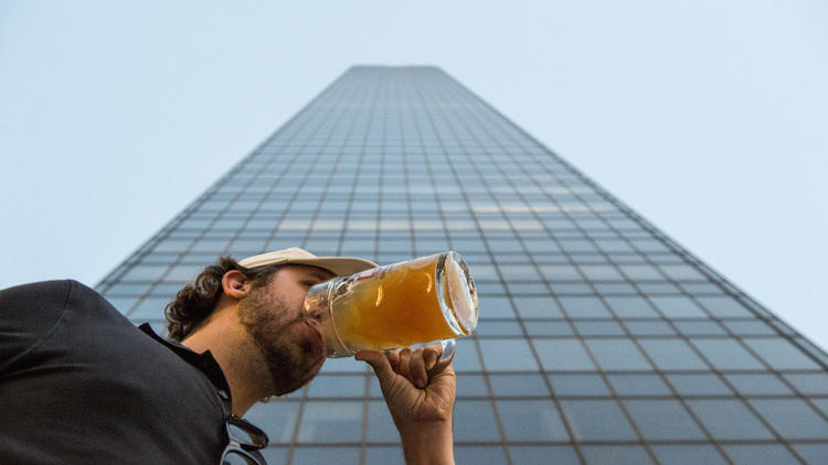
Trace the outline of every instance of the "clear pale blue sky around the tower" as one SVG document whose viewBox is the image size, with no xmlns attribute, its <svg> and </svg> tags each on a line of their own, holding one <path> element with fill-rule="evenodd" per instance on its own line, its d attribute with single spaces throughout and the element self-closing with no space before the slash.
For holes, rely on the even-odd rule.
<svg viewBox="0 0 828 465">
<path fill-rule="evenodd" d="M 828 348 L 828 3 L 0 2 L 0 288 L 94 285 L 354 64 L 437 65 Z"/>
</svg>

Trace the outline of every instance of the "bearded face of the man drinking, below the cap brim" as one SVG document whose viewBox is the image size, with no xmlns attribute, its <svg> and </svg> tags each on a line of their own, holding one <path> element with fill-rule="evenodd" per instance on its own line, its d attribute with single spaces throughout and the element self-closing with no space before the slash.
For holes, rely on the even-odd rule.
<svg viewBox="0 0 828 465">
<path fill-rule="evenodd" d="M 240 321 L 265 357 L 276 396 L 307 385 L 325 363 L 325 344 L 304 302 L 311 285 L 332 277 L 320 268 L 288 264 L 238 303 Z"/>
</svg>

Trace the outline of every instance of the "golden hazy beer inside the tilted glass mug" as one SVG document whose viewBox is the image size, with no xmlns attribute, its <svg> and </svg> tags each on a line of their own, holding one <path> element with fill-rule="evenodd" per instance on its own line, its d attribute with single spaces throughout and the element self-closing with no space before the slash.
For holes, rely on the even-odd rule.
<svg viewBox="0 0 828 465">
<path fill-rule="evenodd" d="M 363 272 L 352 292 L 331 304 L 342 343 L 384 350 L 468 335 L 461 327 L 459 332 L 453 329 L 443 314 L 435 281 L 438 258 L 424 257 Z M 439 288 L 444 303 L 454 312 L 449 294 L 461 291 L 452 285 L 461 277 L 453 278 L 452 272 L 455 270 L 443 274 Z"/>
</svg>

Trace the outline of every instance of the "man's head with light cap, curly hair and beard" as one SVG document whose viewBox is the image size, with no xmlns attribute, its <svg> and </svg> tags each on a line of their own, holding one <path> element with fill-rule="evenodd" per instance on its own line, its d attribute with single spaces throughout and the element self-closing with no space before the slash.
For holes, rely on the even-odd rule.
<svg viewBox="0 0 828 465">
<path fill-rule="evenodd" d="M 273 392 L 307 383 L 325 361 L 316 322 L 304 311 L 310 286 L 376 264 L 362 259 L 315 257 L 291 248 L 236 262 L 222 257 L 179 291 L 167 306 L 170 337 L 183 340 L 210 324 L 217 309 L 235 312 L 270 374 Z"/>
</svg>

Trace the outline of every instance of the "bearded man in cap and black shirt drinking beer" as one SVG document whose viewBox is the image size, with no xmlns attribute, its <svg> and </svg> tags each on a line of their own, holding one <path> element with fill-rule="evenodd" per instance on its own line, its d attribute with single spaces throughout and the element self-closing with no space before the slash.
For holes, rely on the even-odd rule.
<svg viewBox="0 0 828 465">
<path fill-rule="evenodd" d="M 374 266 L 297 248 L 222 258 L 168 306 L 176 340 L 76 282 L 0 291 L 0 463 L 263 463 L 261 432 L 238 417 L 325 363 L 308 289 Z M 355 357 L 374 369 L 410 464 L 453 463 L 455 376 L 438 357 Z"/>
</svg>

